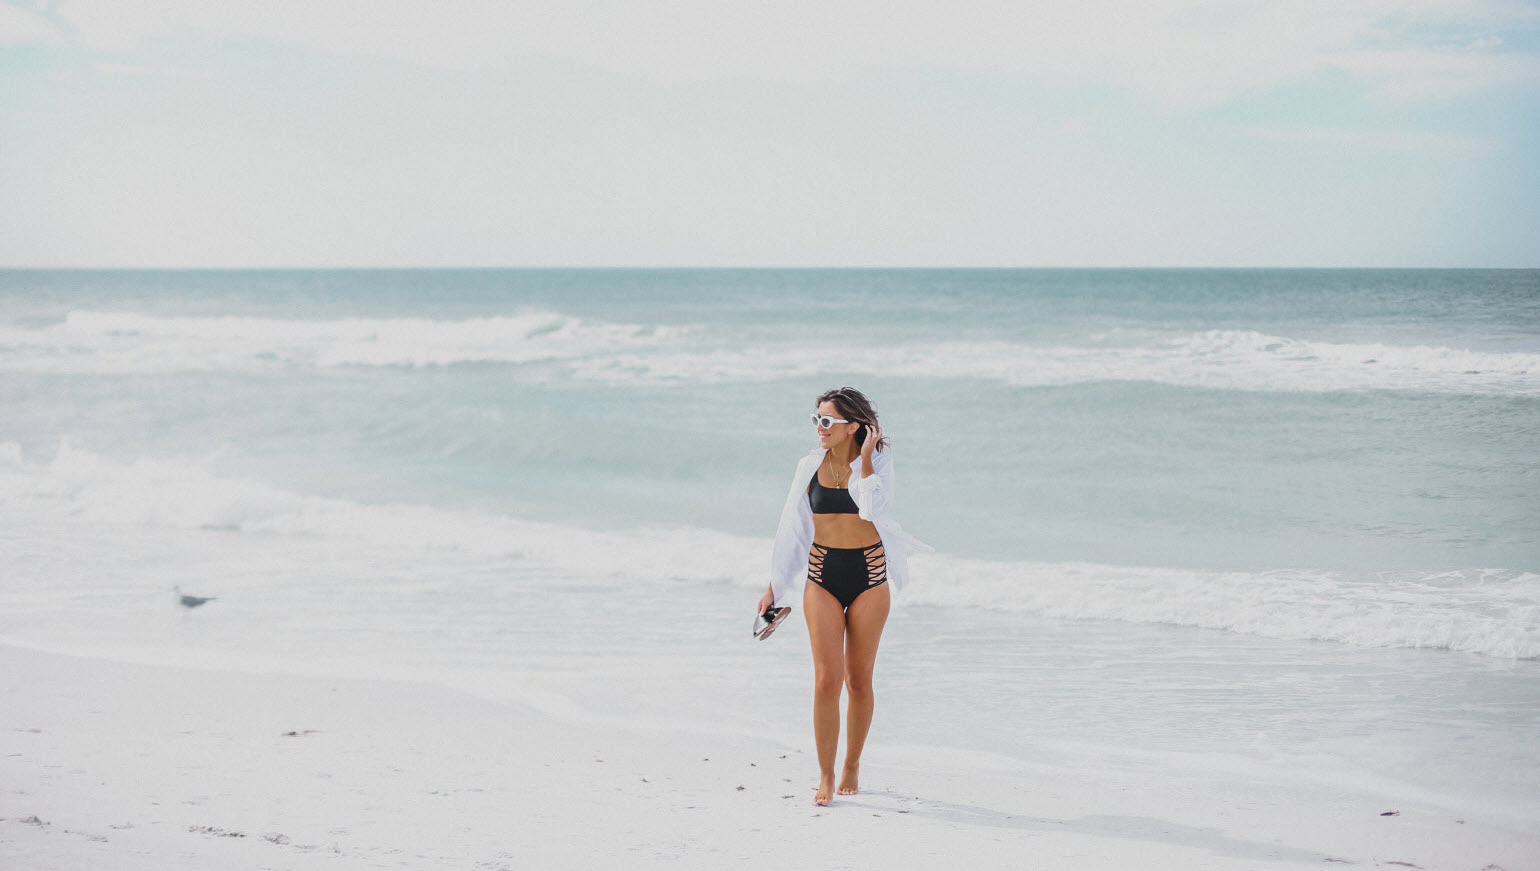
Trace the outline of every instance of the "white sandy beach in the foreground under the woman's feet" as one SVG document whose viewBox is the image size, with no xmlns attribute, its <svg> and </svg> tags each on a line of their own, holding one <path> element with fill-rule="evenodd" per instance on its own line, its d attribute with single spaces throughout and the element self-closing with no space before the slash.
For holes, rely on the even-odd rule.
<svg viewBox="0 0 1540 871">
<path fill-rule="evenodd" d="M 830 808 L 815 774 L 810 737 L 0 645 L 5 871 L 1540 868 L 1540 834 L 1437 800 L 1235 771 L 887 745 Z"/>
</svg>

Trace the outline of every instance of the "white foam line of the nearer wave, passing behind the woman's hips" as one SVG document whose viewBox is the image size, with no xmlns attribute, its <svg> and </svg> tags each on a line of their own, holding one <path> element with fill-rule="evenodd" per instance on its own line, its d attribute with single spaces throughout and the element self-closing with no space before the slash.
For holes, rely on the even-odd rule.
<svg viewBox="0 0 1540 871">
<path fill-rule="evenodd" d="M 391 560 L 405 566 L 424 556 L 448 554 L 460 565 L 514 562 L 571 583 L 725 582 L 756 588 L 765 582 L 768 554 L 767 540 L 713 529 L 593 531 L 424 505 L 362 505 L 220 477 L 209 460 L 119 463 L 68 445 L 48 462 L 0 445 L 0 520 L 9 528 L 25 522 L 37 534 L 69 543 L 125 528 L 276 536 L 306 546 L 319 542 L 380 574 L 390 574 Z M 132 560 L 132 554 L 123 559 Z M 68 566 L 34 563 L 29 571 Z M 42 586 L 74 583 L 65 577 L 34 580 Z M 1052 619 L 1540 659 L 1540 574 L 1506 569 L 1348 577 L 1304 569 L 1204 572 L 935 554 L 916 559 L 906 599 Z"/>
</svg>

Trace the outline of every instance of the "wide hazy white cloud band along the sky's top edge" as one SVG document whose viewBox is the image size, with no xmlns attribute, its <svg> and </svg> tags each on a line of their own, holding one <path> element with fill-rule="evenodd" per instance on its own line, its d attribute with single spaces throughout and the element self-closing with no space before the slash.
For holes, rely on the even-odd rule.
<svg viewBox="0 0 1540 871">
<path fill-rule="evenodd" d="M 1500 0 L 66 0 L 59 14 L 82 45 L 111 49 L 254 38 L 447 69 L 557 58 L 658 82 L 949 71 L 1101 82 L 1172 106 L 1326 68 L 1398 100 L 1532 82 L 1534 55 L 1503 54 L 1502 34 L 1537 28 L 1534 8 Z"/>
</svg>

